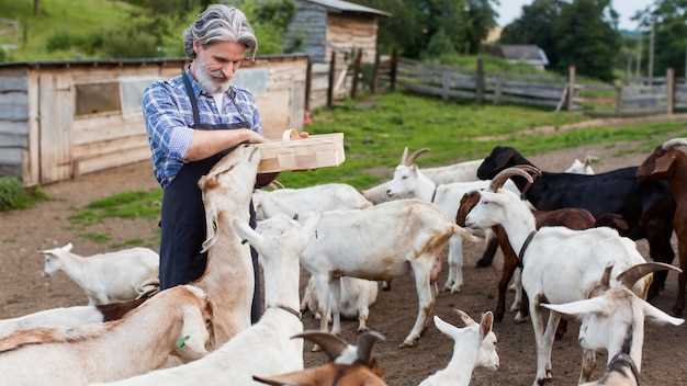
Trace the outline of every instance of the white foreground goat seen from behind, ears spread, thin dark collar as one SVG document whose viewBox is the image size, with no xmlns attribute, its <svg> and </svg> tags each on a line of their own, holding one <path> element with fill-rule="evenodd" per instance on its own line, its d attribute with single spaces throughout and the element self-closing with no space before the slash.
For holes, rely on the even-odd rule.
<svg viewBox="0 0 687 386">
<path fill-rule="evenodd" d="M 235 222 L 237 232 L 262 256 L 267 309 L 260 321 L 200 361 L 115 383 L 120 386 L 254 385 L 255 374 L 303 370 L 303 332 L 299 309 L 299 259 L 315 237 L 317 217 L 301 227 L 285 216 L 261 222 L 257 234 Z"/>
</svg>

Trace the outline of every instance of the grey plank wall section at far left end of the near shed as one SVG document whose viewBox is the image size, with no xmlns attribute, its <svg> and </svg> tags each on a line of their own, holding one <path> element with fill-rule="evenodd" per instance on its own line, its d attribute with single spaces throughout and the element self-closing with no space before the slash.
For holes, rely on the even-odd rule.
<svg viewBox="0 0 687 386">
<path fill-rule="evenodd" d="M 29 148 L 29 75 L 0 73 L 0 175 L 22 175 Z"/>
</svg>

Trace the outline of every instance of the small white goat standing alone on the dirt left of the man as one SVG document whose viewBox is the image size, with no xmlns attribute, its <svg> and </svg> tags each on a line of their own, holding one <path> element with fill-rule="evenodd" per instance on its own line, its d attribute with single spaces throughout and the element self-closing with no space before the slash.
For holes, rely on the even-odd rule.
<svg viewBox="0 0 687 386">
<path fill-rule="evenodd" d="M 44 274 L 64 271 L 88 296 L 89 305 L 132 300 L 140 286 L 157 281 L 159 256 L 148 248 L 129 248 L 88 258 L 71 252 L 71 243 L 42 251 Z"/>
</svg>

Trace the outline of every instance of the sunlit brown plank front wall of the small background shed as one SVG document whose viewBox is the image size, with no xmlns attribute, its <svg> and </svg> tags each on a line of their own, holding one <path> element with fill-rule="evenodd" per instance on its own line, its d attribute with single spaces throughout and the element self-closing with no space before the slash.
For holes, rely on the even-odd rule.
<svg viewBox="0 0 687 386">
<path fill-rule="evenodd" d="M 331 50 L 350 53 L 362 48 L 362 61 L 373 64 L 376 54 L 376 18 L 364 14 L 329 13 L 327 15 L 327 58 Z"/>
</svg>

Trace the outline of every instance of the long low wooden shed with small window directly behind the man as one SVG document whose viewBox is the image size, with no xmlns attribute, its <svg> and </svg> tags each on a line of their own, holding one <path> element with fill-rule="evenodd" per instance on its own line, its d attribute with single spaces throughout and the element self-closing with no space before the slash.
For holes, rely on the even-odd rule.
<svg viewBox="0 0 687 386">
<path fill-rule="evenodd" d="M 300 128 L 306 55 L 246 61 L 234 83 L 256 96 L 266 136 Z M 50 183 L 150 158 L 144 89 L 185 59 L 0 64 L 0 175 Z"/>
</svg>

